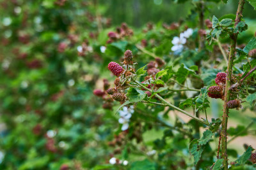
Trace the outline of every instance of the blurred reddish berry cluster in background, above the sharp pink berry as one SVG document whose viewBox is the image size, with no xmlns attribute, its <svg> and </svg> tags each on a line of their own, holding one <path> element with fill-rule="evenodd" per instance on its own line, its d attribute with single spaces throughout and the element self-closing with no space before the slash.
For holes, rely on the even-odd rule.
<svg viewBox="0 0 256 170">
<path fill-rule="evenodd" d="M 133 35 L 133 31 L 132 29 L 129 29 L 129 27 L 127 26 L 127 24 L 122 23 L 121 27 L 117 27 L 116 28 L 116 32 L 108 32 L 108 41 L 107 43 L 113 43 L 114 41 L 118 40 L 118 39 L 122 39 L 125 36 L 132 36 Z"/>
</svg>

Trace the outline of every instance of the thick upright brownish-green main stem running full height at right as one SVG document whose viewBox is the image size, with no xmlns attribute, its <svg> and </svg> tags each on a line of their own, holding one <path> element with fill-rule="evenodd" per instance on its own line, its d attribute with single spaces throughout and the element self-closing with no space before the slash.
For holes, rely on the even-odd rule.
<svg viewBox="0 0 256 170">
<path fill-rule="evenodd" d="M 236 25 L 241 21 L 243 6 L 245 0 L 239 0 L 239 4 L 237 7 L 236 13 Z M 223 169 L 228 169 L 228 155 L 227 155 L 227 124 L 228 124 L 228 108 L 227 103 L 230 101 L 230 87 L 231 87 L 231 75 L 232 75 L 232 67 L 233 60 L 236 52 L 236 41 L 237 41 L 238 32 L 235 32 L 230 35 L 231 43 L 230 43 L 230 52 L 228 55 L 228 67 L 227 67 L 227 78 L 226 78 L 226 87 L 225 87 L 225 98 L 223 105 L 223 119 L 221 124 L 221 157 L 223 160 Z"/>
</svg>

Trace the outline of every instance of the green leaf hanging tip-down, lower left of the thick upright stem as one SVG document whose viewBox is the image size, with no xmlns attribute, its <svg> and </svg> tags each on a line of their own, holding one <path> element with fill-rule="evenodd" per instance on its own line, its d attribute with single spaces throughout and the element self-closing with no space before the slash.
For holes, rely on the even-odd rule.
<svg viewBox="0 0 256 170">
<path fill-rule="evenodd" d="M 189 145 L 189 151 L 193 155 L 194 164 L 196 165 L 204 151 L 204 146 L 198 146 L 198 139 L 193 139 Z"/>
</svg>

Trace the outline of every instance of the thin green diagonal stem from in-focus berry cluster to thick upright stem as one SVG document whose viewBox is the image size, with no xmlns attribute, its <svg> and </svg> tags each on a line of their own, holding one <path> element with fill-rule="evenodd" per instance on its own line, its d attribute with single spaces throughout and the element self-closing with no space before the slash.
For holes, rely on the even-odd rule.
<svg viewBox="0 0 256 170">
<path fill-rule="evenodd" d="M 132 81 L 133 81 L 134 83 L 136 83 L 137 85 L 139 85 L 142 89 L 145 89 L 145 87 L 144 87 L 143 85 L 141 85 L 140 82 L 135 81 L 135 80 L 132 80 Z M 150 89 L 147 89 L 147 88 L 146 88 L 146 90 L 148 90 L 148 91 L 150 91 L 150 92 L 152 92 L 152 93 L 154 92 L 153 90 L 150 90 Z M 184 111 L 184 110 L 181 110 L 180 108 L 177 108 L 177 107 L 174 106 L 173 104 L 168 103 L 168 101 L 164 100 L 163 97 L 159 96 L 158 94 L 155 94 L 155 96 L 156 96 L 158 99 L 160 99 L 163 103 L 165 103 L 166 105 L 168 105 L 170 108 L 173 108 L 174 110 L 180 111 L 181 113 L 184 113 L 185 115 L 187 115 L 187 116 L 189 116 L 189 117 L 195 119 L 196 121 L 198 121 L 198 122 L 200 122 L 200 123 L 202 123 L 202 124 L 204 124 L 204 125 L 207 125 L 207 126 L 209 125 L 209 123 L 204 122 L 204 120 L 201 120 L 200 118 L 197 118 L 197 117 L 195 117 L 194 115 L 191 115 L 191 114 L 189 114 L 188 112 L 186 112 L 186 111 Z"/>
</svg>

